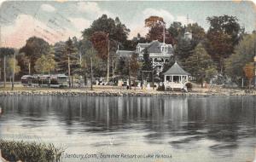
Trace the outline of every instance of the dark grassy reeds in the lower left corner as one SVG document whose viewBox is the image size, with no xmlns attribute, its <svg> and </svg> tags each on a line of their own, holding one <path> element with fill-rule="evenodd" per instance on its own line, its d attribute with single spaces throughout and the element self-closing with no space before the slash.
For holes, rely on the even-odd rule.
<svg viewBox="0 0 256 162">
<path fill-rule="evenodd" d="M 55 148 L 53 144 L 36 142 L 15 142 L 0 139 L 0 149 L 4 159 L 23 162 L 58 162 L 64 150 Z"/>
</svg>

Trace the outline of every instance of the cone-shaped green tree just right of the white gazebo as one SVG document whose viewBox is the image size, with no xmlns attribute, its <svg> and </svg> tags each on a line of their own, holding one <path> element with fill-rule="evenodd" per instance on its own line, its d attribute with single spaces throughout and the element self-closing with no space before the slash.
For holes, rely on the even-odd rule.
<svg viewBox="0 0 256 162">
<path fill-rule="evenodd" d="M 214 75 L 217 74 L 216 67 L 211 59 L 211 56 L 207 54 L 206 49 L 203 45 L 199 43 L 193 55 L 190 55 L 185 62 L 186 70 L 191 73 L 191 75 L 197 78 L 197 81 L 203 82 L 205 79 L 209 81 Z"/>
</svg>

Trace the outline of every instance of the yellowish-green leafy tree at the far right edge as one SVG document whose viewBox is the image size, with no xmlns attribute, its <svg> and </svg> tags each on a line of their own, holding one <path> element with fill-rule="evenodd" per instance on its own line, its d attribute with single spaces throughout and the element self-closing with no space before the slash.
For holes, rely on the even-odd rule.
<svg viewBox="0 0 256 162">
<path fill-rule="evenodd" d="M 236 45 L 234 54 L 225 60 L 225 73 L 232 81 L 241 83 L 241 78 L 245 77 L 242 69 L 247 62 L 253 61 L 254 55 L 256 55 L 256 33 L 244 36 Z"/>
</svg>

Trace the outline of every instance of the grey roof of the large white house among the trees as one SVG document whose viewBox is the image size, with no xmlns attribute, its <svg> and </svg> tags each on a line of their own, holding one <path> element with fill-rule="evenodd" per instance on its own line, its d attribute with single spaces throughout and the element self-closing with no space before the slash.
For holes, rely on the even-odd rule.
<svg viewBox="0 0 256 162">
<path fill-rule="evenodd" d="M 167 54 L 172 54 L 172 44 L 160 43 L 158 40 L 154 40 L 151 43 L 138 43 L 137 45 L 142 48 L 147 48 L 148 53 L 162 53 L 161 46 L 166 45 L 168 47 Z"/>
</svg>

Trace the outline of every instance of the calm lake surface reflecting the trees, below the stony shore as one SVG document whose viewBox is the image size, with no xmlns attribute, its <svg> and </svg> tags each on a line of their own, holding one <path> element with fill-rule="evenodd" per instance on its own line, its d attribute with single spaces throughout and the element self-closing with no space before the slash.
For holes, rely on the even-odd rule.
<svg viewBox="0 0 256 162">
<path fill-rule="evenodd" d="M 62 161 L 246 162 L 256 148 L 255 96 L 2 96 L 0 138 L 53 142 Z M 165 154 L 78 159 L 69 154 Z"/>
</svg>

